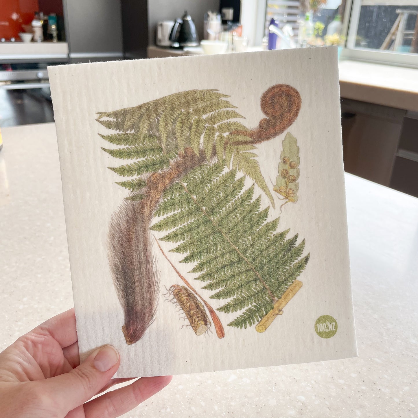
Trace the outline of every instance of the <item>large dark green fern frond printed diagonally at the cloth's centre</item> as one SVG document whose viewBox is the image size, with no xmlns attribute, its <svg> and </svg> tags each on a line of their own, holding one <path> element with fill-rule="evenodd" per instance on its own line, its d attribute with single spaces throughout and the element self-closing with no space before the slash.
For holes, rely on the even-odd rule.
<svg viewBox="0 0 418 418">
<path fill-rule="evenodd" d="M 266 222 L 269 208 L 253 200 L 254 186 L 242 191 L 245 177 L 237 170 L 222 173 L 222 164 L 202 164 L 170 186 L 155 211 L 168 215 L 154 231 L 171 231 L 163 241 L 179 243 L 172 252 L 186 254 L 181 263 L 195 263 L 211 298 L 230 299 L 218 308 L 245 309 L 229 326 L 247 328 L 260 321 L 301 274 L 309 254 L 300 258 L 305 240 L 276 232 L 279 218 Z"/>
</svg>

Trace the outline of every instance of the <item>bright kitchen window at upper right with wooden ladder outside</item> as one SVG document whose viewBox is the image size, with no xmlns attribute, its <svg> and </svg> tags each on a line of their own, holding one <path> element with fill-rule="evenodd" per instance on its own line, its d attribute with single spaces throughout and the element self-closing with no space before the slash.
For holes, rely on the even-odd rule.
<svg viewBox="0 0 418 418">
<path fill-rule="evenodd" d="M 418 0 L 262 1 L 265 37 L 274 18 L 275 25 L 291 28 L 297 39 L 306 11 L 314 9 L 310 24 L 317 30 L 307 46 L 338 44 L 347 59 L 418 67 Z M 337 27 L 339 36 L 332 36 Z"/>
</svg>

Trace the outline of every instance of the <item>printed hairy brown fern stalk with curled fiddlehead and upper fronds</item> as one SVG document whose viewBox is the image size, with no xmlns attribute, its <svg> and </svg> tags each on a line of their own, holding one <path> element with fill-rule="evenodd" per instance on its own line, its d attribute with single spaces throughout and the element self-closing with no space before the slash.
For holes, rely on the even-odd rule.
<svg viewBox="0 0 418 418">
<path fill-rule="evenodd" d="M 188 199 L 185 197 L 188 194 L 168 199 L 166 193 L 174 193 L 171 189 L 174 184 L 180 187 L 178 181 L 200 166 L 209 171 L 222 168 L 227 171 L 226 177 L 213 171 L 207 179 L 224 181 L 221 189 L 226 188 L 222 189 L 226 193 L 233 187 L 238 196 L 244 181 L 235 180 L 240 172 L 242 178 L 251 178 L 257 184 L 274 207 L 257 160 L 256 144 L 275 138 L 296 120 L 301 97 L 287 84 L 270 87 L 260 99 L 266 117 L 253 129 L 238 120 L 244 117 L 234 110 L 237 107 L 226 100 L 228 97 L 214 89 L 189 90 L 139 106 L 98 113 L 97 121 L 114 131 L 100 134 L 111 145 L 102 149 L 115 159 L 130 160 L 122 166 L 109 167 L 126 178 L 115 183 L 128 191 L 125 201 L 112 215 L 108 234 L 110 271 L 125 315 L 122 332 L 127 344 L 142 338 L 155 318 L 159 272 L 151 251 L 149 227 L 161 197 L 165 196 L 163 203 L 167 207 L 160 206 L 157 213 L 173 205 L 170 208 L 177 208 L 176 216 L 184 219 L 184 223 L 195 216 L 184 211 L 189 206 L 182 206 L 187 202 L 181 199 Z M 274 301 L 277 294 L 274 287 L 266 291 Z"/>
</svg>

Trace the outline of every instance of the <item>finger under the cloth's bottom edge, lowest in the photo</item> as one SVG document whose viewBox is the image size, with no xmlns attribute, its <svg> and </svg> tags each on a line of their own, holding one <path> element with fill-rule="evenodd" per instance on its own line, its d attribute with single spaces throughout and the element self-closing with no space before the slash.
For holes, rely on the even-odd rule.
<svg viewBox="0 0 418 418">
<path fill-rule="evenodd" d="M 84 405 L 86 418 L 115 418 L 155 395 L 173 376 L 141 377 L 129 386 L 112 390 Z"/>
</svg>

